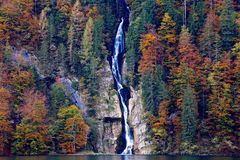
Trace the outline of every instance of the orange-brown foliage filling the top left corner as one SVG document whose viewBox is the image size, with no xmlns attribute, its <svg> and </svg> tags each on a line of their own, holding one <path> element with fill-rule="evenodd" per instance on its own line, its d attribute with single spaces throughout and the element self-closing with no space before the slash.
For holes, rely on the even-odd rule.
<svg viewBox="0 0 240 160">
<path fill-rule="evenodd" d="M 11 45 L 37 46 L 40 38 L 39 23 L 33 16 L 33 0 L 6 1 L 0 6 L 0 37 L 2 45 L 9 41 Z"/>
</svg>

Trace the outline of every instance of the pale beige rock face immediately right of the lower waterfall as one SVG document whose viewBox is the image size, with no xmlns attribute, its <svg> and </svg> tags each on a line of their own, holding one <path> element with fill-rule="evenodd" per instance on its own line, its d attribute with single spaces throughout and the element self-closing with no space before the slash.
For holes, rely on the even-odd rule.
<svg viewBox="0 0 240 160">
<path fill-rule="evenodd" d="M 141 90 L 135 91 L 131 87 L 129 99 L 129 122 L 134 133 L 134 151 L 137 154 L 150 154 L 153 147 L 149 139 L 145 111 L 141 100 Z"/>
</svg>

